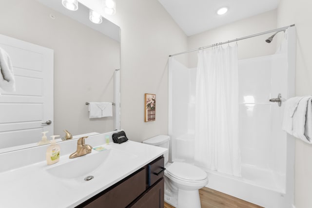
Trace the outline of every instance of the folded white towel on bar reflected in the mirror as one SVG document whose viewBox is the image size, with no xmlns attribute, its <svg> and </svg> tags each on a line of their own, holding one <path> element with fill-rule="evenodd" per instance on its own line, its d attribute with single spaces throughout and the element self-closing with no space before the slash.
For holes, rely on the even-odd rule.
<svg viewBox="0 0 312 208">
<path fill-rule="evenodd" d="M 113 116 L 113 103 L 111 102 L 90 102 L 89 118 L 102 118 Z"/>
</svg>

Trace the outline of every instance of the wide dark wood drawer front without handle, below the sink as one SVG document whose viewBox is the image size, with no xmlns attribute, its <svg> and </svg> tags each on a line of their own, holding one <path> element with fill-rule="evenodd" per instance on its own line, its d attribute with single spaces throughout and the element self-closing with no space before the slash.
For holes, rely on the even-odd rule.
<svg viewBox="0 0 312 208">
<path fill-rule="evenodd" d="M 145 169 L 127 178 L 85 208 L 125 208 L 145 191 Z"/>
</svg>

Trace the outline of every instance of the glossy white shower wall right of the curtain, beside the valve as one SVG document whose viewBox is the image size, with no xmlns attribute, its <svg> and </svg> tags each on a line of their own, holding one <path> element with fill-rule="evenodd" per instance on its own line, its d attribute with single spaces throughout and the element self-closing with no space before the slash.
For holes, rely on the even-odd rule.
<svg viewBox="0 0 312 208">
<path fill-rule="evenodd" d="M 266 177 L 266 187 L 285 192 L 284 106 L 269 99 L 279 93 L 287 96 L 287 54 L 240 60 L 238 69 L 241 162 L 262 170 L 258 180 Z M 242 177 L 247 175 L 242 171 Z"/>
</svg>

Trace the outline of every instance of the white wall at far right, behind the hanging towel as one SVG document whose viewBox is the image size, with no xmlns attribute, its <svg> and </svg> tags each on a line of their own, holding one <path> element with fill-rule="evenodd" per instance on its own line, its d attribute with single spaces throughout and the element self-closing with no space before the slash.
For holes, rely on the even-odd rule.
<svg viewBox="0 0 312 208">
<path fill-rule="evenodd" d="M 281 0 L 277 9 L 277 26 L 296 24 L 296 95 L 312 95 L 312 1 Z M 295 207 L 312 207 L 312 145 L 296 139 Z"/>
</svg>

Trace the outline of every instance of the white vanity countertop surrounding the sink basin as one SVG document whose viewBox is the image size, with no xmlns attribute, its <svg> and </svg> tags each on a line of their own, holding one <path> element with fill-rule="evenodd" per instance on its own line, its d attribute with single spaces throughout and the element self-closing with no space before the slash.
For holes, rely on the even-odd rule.
<svg viewBox="0 0 312 208">
<path fill-rule="evenodd" d="M 87 140 L 86 144 L 88 144 Z M 42 161 L 13 170 L 2 171 L 0 172 L 0 207 L 74 208 L 168 151 L 164 148 L 129 140 L 122 144 L 110 143 L 101 146 L 107 150 L 114 149 L 117 150 L 116 152 L 127 152 L 132 156 L 122 161 L 119 160 L 113 168 L 106 169 L 103 166 L 101 169 L 91 172 L 94 179 L 90 181 L 84 181 L 85 176 L 76 179 L 58 178 L 51 175 L 47 169 L 67 163 L 70 160 L 79 160 L 81 157 L 100 153 L 95 150 L 90 154 L 74 159 L 69 159 L 69 154 L 62 155 L 60 161 L 51 166 L 48 166 L 46 161 Z M 83 163 L 81 168 L 84 168 Z"/>
</svg>

